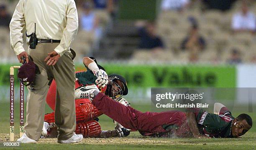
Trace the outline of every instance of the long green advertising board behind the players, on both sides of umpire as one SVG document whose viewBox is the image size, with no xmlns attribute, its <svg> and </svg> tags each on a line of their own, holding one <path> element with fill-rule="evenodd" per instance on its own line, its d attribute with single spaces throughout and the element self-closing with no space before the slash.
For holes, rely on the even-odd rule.
<svg viewBox="0 0 256 150">
<path fill-rule="evenodd" d="M 0 65 L 0 92 L 9 93 L 10 66 Z M 128 82 L 129 100 L 144 102 L 150 98 L 151 87 L 236 87 L 235 66 L 202 66 L 202 65 L 128 65 L 102 64 L 108 75 L 118 73 Z M 85 70 L 82 64 L 76 70 Z M 15 86 L 18 86 L 18 70 L 15 70 Z M 148 95 L 149 94 L 149 95 Z M 235 92 L 219 89 L 215 92 L 218 100 L 234 100 Z M 8 96 L 6 96 L 8 97 Z"/>
</svg>

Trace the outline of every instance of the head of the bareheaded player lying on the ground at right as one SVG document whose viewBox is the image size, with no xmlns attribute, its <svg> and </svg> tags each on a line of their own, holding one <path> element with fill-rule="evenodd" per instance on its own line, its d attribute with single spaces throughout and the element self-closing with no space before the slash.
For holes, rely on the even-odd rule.
<svg viewBox="0 0 256 150">
<path fill-rule="evenodd" d="M 233 124 L 231 126 L 231 133 L 234 138 L 244 135 L 248 130 L 250 130 L 251 126 L 247 123 L 246 120 L 233 120 Z"/>
</svg>

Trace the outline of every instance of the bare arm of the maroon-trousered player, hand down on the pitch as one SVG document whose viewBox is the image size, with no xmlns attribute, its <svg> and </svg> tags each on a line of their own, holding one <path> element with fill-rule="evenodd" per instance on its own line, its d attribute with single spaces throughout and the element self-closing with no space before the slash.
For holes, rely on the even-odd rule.
<svg viewBox="0 0 256 150">
<path fill-rule="evenodd" d="M 199 110 L 200 109 L 195 109 L 195 108 L 186 110 L 187 124 L 189 126 L 191 133 L 195 138 L 209 138 L 205 135 L 200 135 L 199 133 L 199 129 L 197 127 L 197 119 L 196 119 L 197 114 L 199 113 Z"/>
</svg>

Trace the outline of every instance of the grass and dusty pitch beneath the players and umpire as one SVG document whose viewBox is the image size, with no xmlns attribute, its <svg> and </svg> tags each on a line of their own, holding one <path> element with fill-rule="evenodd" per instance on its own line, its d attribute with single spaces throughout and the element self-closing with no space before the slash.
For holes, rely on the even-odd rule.
<svg viewBox="0 0 256 150">
<path fill-rule="evenodd" d="M 0 102 L 0 149 L 17 150 L 255 150 L 256 149 L 256 113 L 249 113 L 253 118 L 253 127 L 242 138 L 150 138 L 143 137 L 138 132 L 132 132 L 125 138 L 86 138 L 82 143 L 58 144 L 56 138 L 41 139 L 36 144 L 20 144 L 19 147 L 3 147 L 3 142 L 9 141 L 10 132 L 10 103 Z M 145 112 L 150 105 L 133 105 L 134 108 Z M 46 113 L 51 109 L 46 106 Z M 233 112 L 234 116 L 240 112 Z M 113 130 L 113 120 L 105 115 L 100 116 L 102 130 Z M 19 133 L 19 103 L 15 103 L 15 140 Z"/>
</svg>

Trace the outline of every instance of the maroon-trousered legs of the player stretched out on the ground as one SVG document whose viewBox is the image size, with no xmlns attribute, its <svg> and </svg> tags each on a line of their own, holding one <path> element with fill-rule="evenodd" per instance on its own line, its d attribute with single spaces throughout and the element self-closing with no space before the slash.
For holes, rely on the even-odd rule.
<svg viewBox="0 0 256 150">
<path fill-rule="evenodd" d="M 165 132 L 162 125 L 179 126 L 186 119 L 186 115 L 179 111 L 142 113 L 131 107 L 126 107 L 102 93 L 97 94 L 92 100 L 92 104 L 125 128 L 147 133 Z"/>
</svg>

